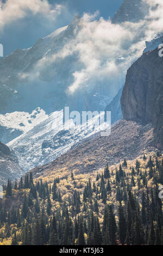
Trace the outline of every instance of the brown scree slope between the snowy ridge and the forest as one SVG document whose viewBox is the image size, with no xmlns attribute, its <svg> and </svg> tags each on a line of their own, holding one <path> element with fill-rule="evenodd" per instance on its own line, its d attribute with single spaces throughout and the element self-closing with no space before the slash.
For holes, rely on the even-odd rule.
<svg viewBox="0 0 163 256">
<path fill-rule="evenodd" d="M 152 125 L 143 126 L 135 121 L 121 120 L 112 126 L 110 136 L 91 138 L 55 161 L 34 168 L 32 172 L 35 178 L 66 170 L 89 173 L 103 168 L 106 163 L 111 166 L 124 158 L 135 159 L 145 150 L 155 150 Z"/>
</svg>

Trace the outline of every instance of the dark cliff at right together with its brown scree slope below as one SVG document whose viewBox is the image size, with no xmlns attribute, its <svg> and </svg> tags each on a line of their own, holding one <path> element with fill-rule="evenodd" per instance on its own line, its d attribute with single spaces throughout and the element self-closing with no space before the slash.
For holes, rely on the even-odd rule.
<svg viewBox="0 0 163 256">
<path fill-rule="evenodd" d="M 121 97 L 123 120 L 111 126 L 111 135 L 88 139 L 57 160 L 35 168 L 34 175 L 51 175 L 62 169 L 87 173 L 107 162 L 111 165 L 125 157 L 136 158 L 145 150 L 162 149 L 162 65 L 158 48 L 143 53 L 127 71 Z"/>
</svg>

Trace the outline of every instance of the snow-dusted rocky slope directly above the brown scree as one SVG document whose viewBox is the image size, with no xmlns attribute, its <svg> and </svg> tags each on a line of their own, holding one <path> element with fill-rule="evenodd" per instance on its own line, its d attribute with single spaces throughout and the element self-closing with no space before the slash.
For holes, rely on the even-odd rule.
<svg viewBox="0 0 163 256">
<path fill-rule="evenodd" d="M 18 157 L 24 171 L 55 160 L 73 147 L 105 129 L 109 124 L 99 126 L 99 115 L 85 124 L 74 125 L 72 119 L 63 124 L 63 111 L 51 113 L 35 125 L 8 143 Z M 70 129 L 68 124 L 70 124 Z M 67 128 L 66 128 L 67 127 Z"/>
</svg>

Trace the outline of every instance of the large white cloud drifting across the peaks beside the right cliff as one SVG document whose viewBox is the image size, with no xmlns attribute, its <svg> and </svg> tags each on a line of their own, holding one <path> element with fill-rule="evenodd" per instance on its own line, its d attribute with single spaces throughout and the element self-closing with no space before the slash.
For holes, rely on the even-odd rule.
<svg viewBox="0 0 163 256">
<path fill-rule="evenodd" d="M 143 0 L 144 1 L 144 0 Z M 78 61 L 83 67 L 72 72 L 73 82 L 68 84 L 67 92 L 72 94 L 78 88 L 92 87 L 103 83 L 110 88 L 111 96 L 122 86 L 126 71 L 145 48 L 145 41 L 152 40 L 163 32 L 162 0 L 147 0 L 151 6 L 149 15 L 138 23 L 124 22 L 112 24 L 102 17 L 84 14 L 79 29 L 74 26 L 74 36 L 52 55 L 43 57 L 35 66 L 34 76 L 42 72 L 45 66 L 51 66 L 58 59 L 78 53 Z M 154 8 L 155 4 L 158 8 Z"/>
</svg>

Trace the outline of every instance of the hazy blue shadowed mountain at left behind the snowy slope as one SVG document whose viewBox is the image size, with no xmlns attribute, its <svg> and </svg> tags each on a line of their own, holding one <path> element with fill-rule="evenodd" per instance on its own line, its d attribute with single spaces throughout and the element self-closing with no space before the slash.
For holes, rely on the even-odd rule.
<svg viewBox="0 0 163 256">
<path fill-rule="evenodd" d="M 67 93 L 68 86 L 74 81 L 74 72 L 84 68 L 78 52 L 65 52 L 79 33 L 80 22 L 76 16 L 70 25 L 39 39 L 34 46 L 18 49 L 0 59 L 2 114 L 32 112 L 37 107 L 49 114 L 64 106 L 78 111 L 104 111 L 111 100 L 105 82 L 92 84 L 73 95 Z M 55 54 L 57 59 L 53 62 Z M 45 58 L 49 58 L 46 64 L 43 63 Z"/>
</svg>

